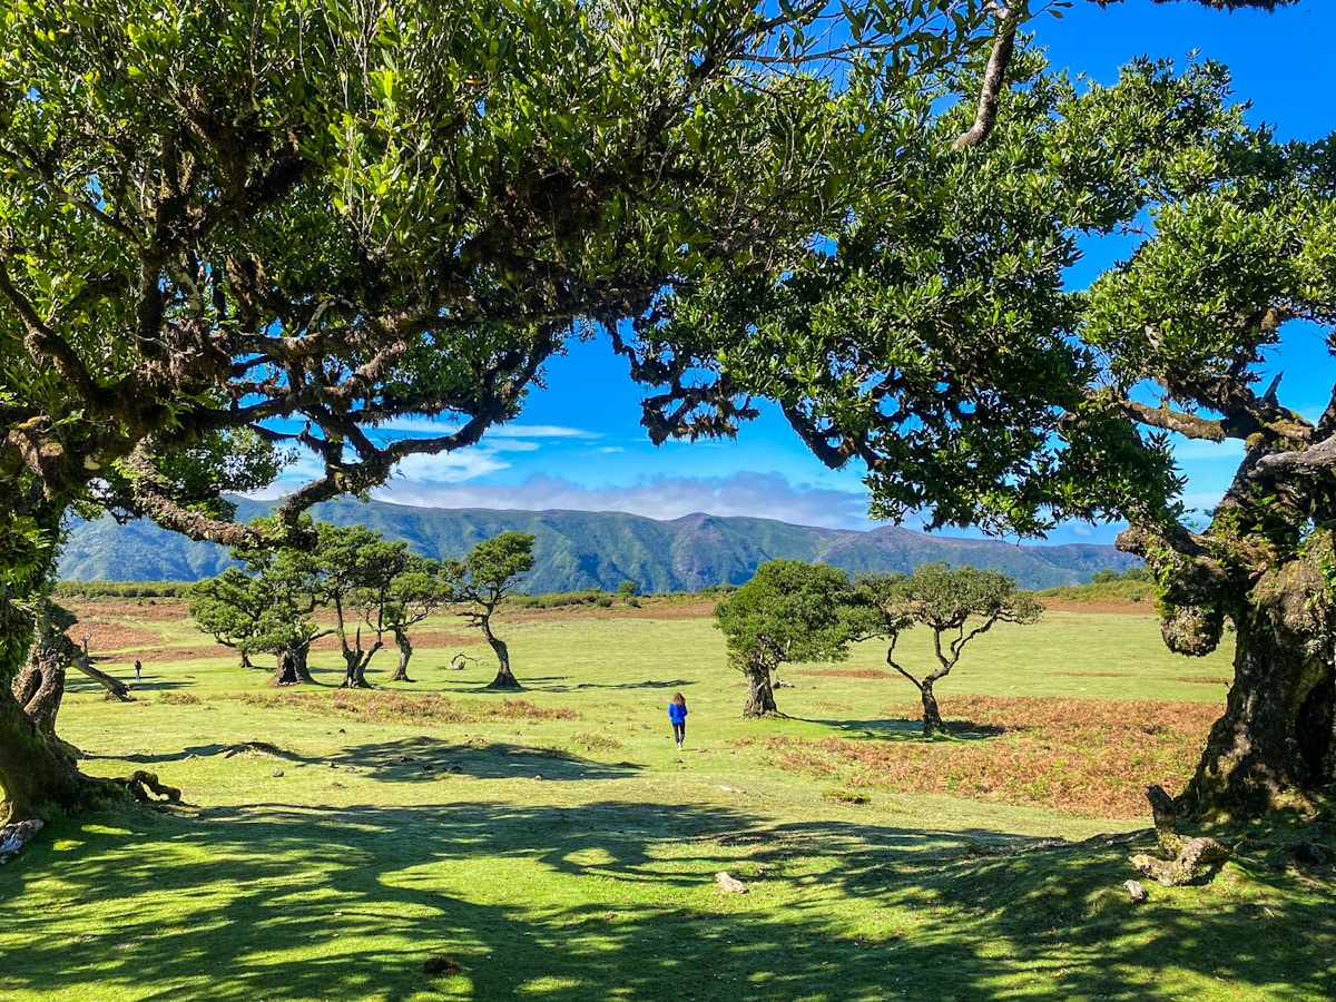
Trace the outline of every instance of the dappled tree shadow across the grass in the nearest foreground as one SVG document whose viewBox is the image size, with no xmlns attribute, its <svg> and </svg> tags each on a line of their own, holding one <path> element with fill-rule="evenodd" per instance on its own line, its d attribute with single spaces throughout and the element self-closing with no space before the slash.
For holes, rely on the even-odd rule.
<svg viewBox="0 0 1336 1002">
<path fill-rule="evenodd" d="M 1202 910 L 1200 888 L 1156 890 L 1137 907 L 1118 888 L 1126 846 L 990 855 L 1015 840 L 613 799 L 57 828 L 0 871 L 0 990 L 29 998 L 1130 1001 L 1165 997 L 1166 974 L 1252 997 L 1333 987 L 1325 895 L 1257 867 L 1240 871 L 1253 898 Z M 717 892 L 717 870 L 752 892 Z M 432 955 L 461 974 L 433 985 Z"/>
</svg>

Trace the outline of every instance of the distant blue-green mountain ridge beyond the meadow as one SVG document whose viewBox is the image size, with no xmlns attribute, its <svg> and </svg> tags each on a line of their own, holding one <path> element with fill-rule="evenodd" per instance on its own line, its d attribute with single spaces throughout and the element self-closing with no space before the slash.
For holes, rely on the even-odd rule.
<svg viewBox="0 0 1336 1002">
<path fill-rule="evenodd" d="M 240 501 L 236 517 L 248 521 L 266 510 L 265 504 Z M 386 538 L 405 540 L 426 557 L 462 556 L 506 529 L 530 532 L 537 537 L 537 565 L 524 591 L 532 595 L 615 591 L 623 581 L 635 581 L 641 592 L 743 584 L 759 564 L 775 557 L 823 561 L 851 573 L 910 572 L 918 564 L 946 560 L 997 568 L 1035 589 L 1083 584 L 1096 570 L 1124 570 L 1140 562 L 1113 546 L 1018 546 L 892 526 L 848 532 L 708 514 L 661 522 L 620 512 L 406 508 L 347 498 L 317 505 L 313 514 L 335 525 L 366 525 Z M 60 576 L 71 581 L 196 581 L 227 565 L 227 550 L 220 546 L 191 542 L 148 521 L 116 525 L 104 517 L 73 525 Z"/>
</svg>

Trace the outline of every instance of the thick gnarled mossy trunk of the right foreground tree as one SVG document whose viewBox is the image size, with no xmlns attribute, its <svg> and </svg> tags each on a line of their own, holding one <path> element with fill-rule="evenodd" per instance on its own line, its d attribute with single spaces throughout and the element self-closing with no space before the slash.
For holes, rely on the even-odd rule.
<svg viewBox="0 0 1336 1002">
<path fill-rule="evenodd" d="M 1256 816 L 1336 774 L 1336 612 L 1316 564 L 1268 570 L 1234 615 L 1234 681 L 1182 796 L 1188 810 Z"/>
</svg>

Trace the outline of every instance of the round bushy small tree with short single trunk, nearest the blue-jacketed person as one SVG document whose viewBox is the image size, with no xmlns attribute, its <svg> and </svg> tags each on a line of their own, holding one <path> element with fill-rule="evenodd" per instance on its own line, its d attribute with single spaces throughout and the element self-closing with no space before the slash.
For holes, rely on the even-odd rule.
<svg viewBox="0 0 1336 1002">
<path fill-rule="evenodd" d="M 751 581 L 715 607 L 728 663 L 747 676 L 743 716 L 775 705 L 772 673 L 784 661 L 842 661 L 855 636 L 848 576 L 826 564 L 771 560 Z"/>
</svg>

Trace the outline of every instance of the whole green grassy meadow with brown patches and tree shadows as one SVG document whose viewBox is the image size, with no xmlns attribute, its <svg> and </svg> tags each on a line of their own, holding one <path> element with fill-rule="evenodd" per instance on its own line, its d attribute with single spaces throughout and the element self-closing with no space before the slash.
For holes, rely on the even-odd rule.
<svg viewBox="0 0 1336 1002">
<path fill-rule="evenodd" d="M 458 620 L 420 631 L 417 681 L 385 651 L 341 692 L 331 649 L 322 685 L 271 689 L 180 603 L 79 612 L 144 680 L 115 704 L 72 676 L 61 733 L 186 803 L 56 822 L 0 867 L 4 999 L 1336 997 L 1332 867 L 1285 850 L 1331 858 L 1336 824 L 1232 830 L 1210 880 L 1122 887 L 1145 786 L 1181 788 L 1229 677 L 1146 612 L 979 637 L 937 741 L 875 644 L 787 667 L 788 716 L 743 720 L 704 607 L 510 616 L 516 693 Z"/>
</svg>

